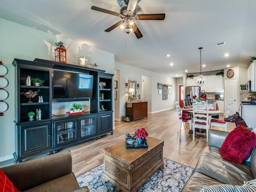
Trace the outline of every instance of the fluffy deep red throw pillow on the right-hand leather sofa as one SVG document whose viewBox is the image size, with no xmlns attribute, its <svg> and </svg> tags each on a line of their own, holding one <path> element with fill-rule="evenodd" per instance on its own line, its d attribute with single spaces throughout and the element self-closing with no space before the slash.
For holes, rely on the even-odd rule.
<svg viewBox="0 0 256 192">
<path fill-rule="evenodd" d="M 232 130 L 222 146 L 220 154 L 225 160 L 242 164 L 256 147 L 256 134 L 239 125 Z"/>
</svg>

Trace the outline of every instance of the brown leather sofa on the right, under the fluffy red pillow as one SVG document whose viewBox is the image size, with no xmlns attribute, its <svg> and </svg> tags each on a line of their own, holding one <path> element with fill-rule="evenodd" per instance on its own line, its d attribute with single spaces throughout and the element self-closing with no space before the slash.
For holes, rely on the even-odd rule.
<svg viewBox="0 0 256 192">
<path fill-rule="evenodd" d="M 256 178 L 256 150 L 251 161 L 235 164 L 222 158 L 219 148 L 229 132 L 209 129 L 208 146 L 204 149 L 196 168 L 186 182 L 182 192 L 199 192 L 202 188 L 215 184 L 243 185 Z"/>
</svg>

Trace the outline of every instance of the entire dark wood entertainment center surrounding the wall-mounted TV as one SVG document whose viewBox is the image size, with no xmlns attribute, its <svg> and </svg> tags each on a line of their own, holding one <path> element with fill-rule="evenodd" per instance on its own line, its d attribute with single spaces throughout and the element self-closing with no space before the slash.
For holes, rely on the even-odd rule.
<svg viewBox="0 0 256 192">
<path fill-rule="evenodd" d="M 113 134 L 112 127 L 112 77 L 113 74 L 104 70 L 83 67 L 36 58 L 34 61 L 14 59 L 15 67 L 15 152 L 14 159 L 20 162 L 26 158 L 38 154 L 52 154 L 63 147 L 84 142 L 90 139 L 98 139 L 104 134 Z M 79 72 L 93 75 L 93 93 L 90 98 L 90 112 L 80 115 L 56 115 L 52 116 L 52 76 L 53 70 L 67 72 Z M 27 76 L 44 80 L 43 86 L 26 85 Z M 100 88 L 99 82 L 106 82 L 104 88 Z M 22 92 L 38 92 L 32 102 L 22 95 Z M 104 99 L 100 100 L 100 94 Z M 38 102 L 38 96 L 42 96 L 44 102 Z M 57 100 L 56 102 L 79 101 L 85 99 Z M 89 100 L 89 99 L 86 99 Z M 104 109 L 101 109 L 101 106 Z M 30 121 L 27 114 L 40 108 L 43 113 L 41 119 Z"/>
</svg>

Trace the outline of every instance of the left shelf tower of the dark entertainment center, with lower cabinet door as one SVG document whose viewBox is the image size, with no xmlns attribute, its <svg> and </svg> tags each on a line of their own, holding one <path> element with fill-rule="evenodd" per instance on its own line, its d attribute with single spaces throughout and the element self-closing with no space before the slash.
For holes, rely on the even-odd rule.
<svg viewBox="0 0 256 192">
<path fill-rule="evenodd" d="M 15 140 L 17 144 L 14 159 L 16 162 L 20 162 L 20 160 L 34 156 L 34 154 L 45 152 L 50 154 L 52 150 L 51 70 L 53 65 L 37 64 L 21 59 L 14 59 L 12 64 L 15 67 L 16 92 L 14 122 L 16 123 Z M 36 78 L 42 80 L 42 86 L 33 84 Z M 44 102 L 39 102 L 41 96 Z M 37 110 L 38 116 L 36 115 Z M 31 119 L 28 117 L 29 112 L 35 114 Z"/>
</svg>

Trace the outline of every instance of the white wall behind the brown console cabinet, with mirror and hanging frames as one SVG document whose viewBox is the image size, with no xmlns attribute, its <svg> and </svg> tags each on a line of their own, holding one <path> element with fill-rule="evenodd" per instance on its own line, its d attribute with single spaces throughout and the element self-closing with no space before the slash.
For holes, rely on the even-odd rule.
<svg viewBox="0 0 256 192">
<path fill-rule="evenodd" d="M 121 116 L 125 116 L 125 103 L 127 102 L 125 83 L 128 82 L 128 80 L 135 80 L 137 83 L 141 84 L 142 76 L 151 77 L 151 112 L 155 113 L 174 108 L 174 100 L 176 99 L 175 78 L 119 62 L 115 62 L 115 69 L 120 71 L 120 118 Z M 162 100 L 162 95 L 158 95 L 157 83 L 172 84 L 172 94 L 168 95 L 168 100 Z"/>
</svg>

